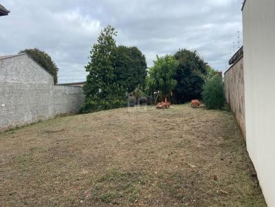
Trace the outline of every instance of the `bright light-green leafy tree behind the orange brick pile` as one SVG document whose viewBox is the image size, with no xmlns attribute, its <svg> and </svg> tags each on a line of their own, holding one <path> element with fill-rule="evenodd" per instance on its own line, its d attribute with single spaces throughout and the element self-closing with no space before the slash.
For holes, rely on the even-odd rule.
<svg viewBox="0 0 275 207">
<path fill-rule="evenodd" d="M 162 98 L 170 97 L 170 92 L 177 85 L 177 81 L 173 79 L 177 71 L 179 62 L 173 56 L 165 56 L 154 61 L 148 71 L 146 80 L 147 87 L 151 93 L 159 93 Z"/>
</svg>

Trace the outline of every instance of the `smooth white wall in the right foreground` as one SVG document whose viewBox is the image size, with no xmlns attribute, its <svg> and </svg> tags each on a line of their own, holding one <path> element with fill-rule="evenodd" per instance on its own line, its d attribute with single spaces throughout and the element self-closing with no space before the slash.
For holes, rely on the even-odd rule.
<svg viewBox="0 0 275 207">
<path fill-rule="evenodd" d="M 247 147 L 268 206 L 275 206 L 275 1 L 243 8 Z"/>
</svg>

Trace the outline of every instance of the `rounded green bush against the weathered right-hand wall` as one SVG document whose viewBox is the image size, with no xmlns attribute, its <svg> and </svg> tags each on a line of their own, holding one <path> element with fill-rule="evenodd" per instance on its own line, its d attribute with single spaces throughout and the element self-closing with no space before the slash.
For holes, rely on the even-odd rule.
<svg viewBox="0 0 275 207">
<path fill-rule="evenodd" d="M 213 77 L 203 86 L 203 103 L 208 109 L 221 109 L 224 106 L 225 97 L 223 82 L 220 76 Z"/>
</svg>

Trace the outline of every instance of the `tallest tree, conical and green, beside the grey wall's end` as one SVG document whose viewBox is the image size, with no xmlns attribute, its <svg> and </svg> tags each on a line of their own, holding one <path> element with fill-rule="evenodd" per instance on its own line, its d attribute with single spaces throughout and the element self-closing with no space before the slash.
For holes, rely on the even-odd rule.
<svg viewBox="0 0 275 207">
<path fill-rule="evenodd" d="M 83 86 L 86 95 L 83 113 L 108 110 L 126 106 L 124 90 L 115 83 L 115 29 L 105 27 L 98 37 L 98 42 L 91 49 L 90 62 L 85 67 L 89 72 Z"/>
</svg>

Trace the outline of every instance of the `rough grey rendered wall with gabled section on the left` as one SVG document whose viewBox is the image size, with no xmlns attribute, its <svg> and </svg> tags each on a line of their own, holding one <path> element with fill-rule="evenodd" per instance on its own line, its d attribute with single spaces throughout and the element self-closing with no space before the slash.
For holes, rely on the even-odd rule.
<svg viewBox="0 0 275 207">
<path fill-rule="evenodd" d="M 0 60 L 0 131 L 77 112 L 83 90 L 54 86 L 52 75 L 29 56 Z"/>
</svg>

